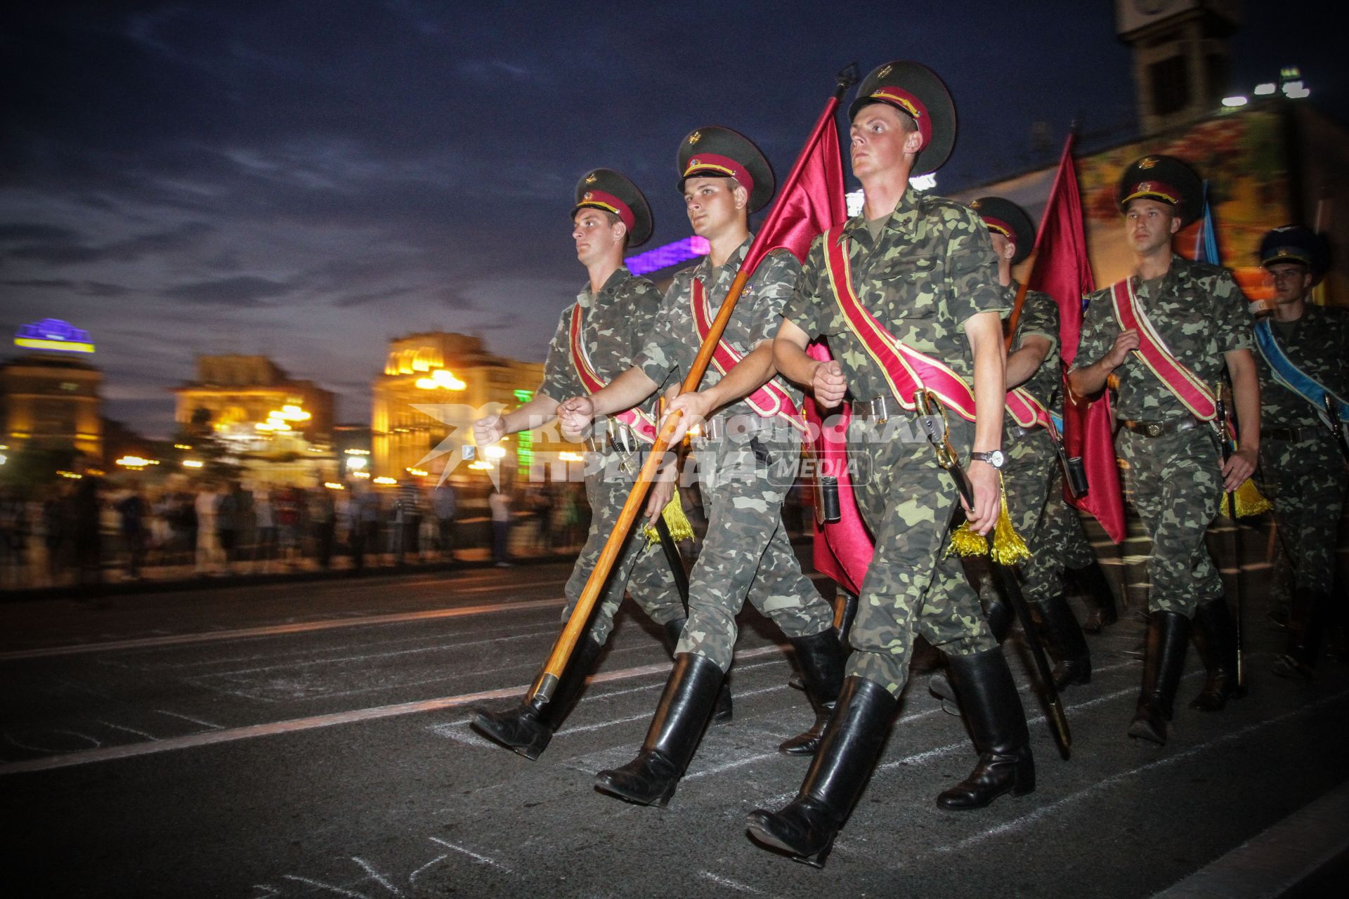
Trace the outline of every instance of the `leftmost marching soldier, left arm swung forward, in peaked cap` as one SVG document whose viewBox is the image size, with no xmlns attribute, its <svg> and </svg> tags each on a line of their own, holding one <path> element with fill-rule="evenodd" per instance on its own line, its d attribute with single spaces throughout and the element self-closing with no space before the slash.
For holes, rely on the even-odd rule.
<svg viewBox="0 0 1349 899">
<path fill-rule="evenodd" d="M 616 171 L 595 168 L 576 185 L 572 208 L 572 239 L 576 257 L 590 272 L 590 283 L 577 294 L 557 323 L 544 364 L 544 383 L 532 400 L 506 415 L 488 415 L 473 422 L 473 439 L 488 446 L 507 434 L 540 427 L 553 418 L 561 399 L 599 390 L 631 365 L 660 309 L 661 295 L 645 278 L 635 278 L 623 266 L 623 251 L 638 247 L 652 235 L 652 212 L 633 182 Z M 654 388 L 653 388 L 654 390 Z M 654 439 L 654 422 L 643 407 L 650 394 L 637 396 L 623 410 L 615 410 L 619 431 L 637 439 Z M 621 457 L 631 452 L 622 441 L 591 441 L 585 466 L 585 497 L 591 507 L 591 527 L 567 581 L 567 608 L 563 621 L 585 588 L 604 539 L 614 530 L 618 512 L 631 489 L 631 478 L 618 470 Z M 652 488 L 648 515 L 654 519 L 673 493 L 673 481 Z M 641 535 L 629 539 L 600 597 L 590 632 L 577 642 L 575 655 L 560 679 L 552 701 L 542 709 L 519 704 L 500 712 L 479 710 L 473 726 L 483 735 L 526 759 L 537 759 L 553 732 L 575 705 L 585 677 L 614 627 L 614 613 L 625 589 L 641 609 L 665 632 L 669 648 L 684 629 L 684 607 L 669 563 L 657 547 Z M 730 693 L 719 698 L 716 721 L 731 718 Z"/>
</svg>

